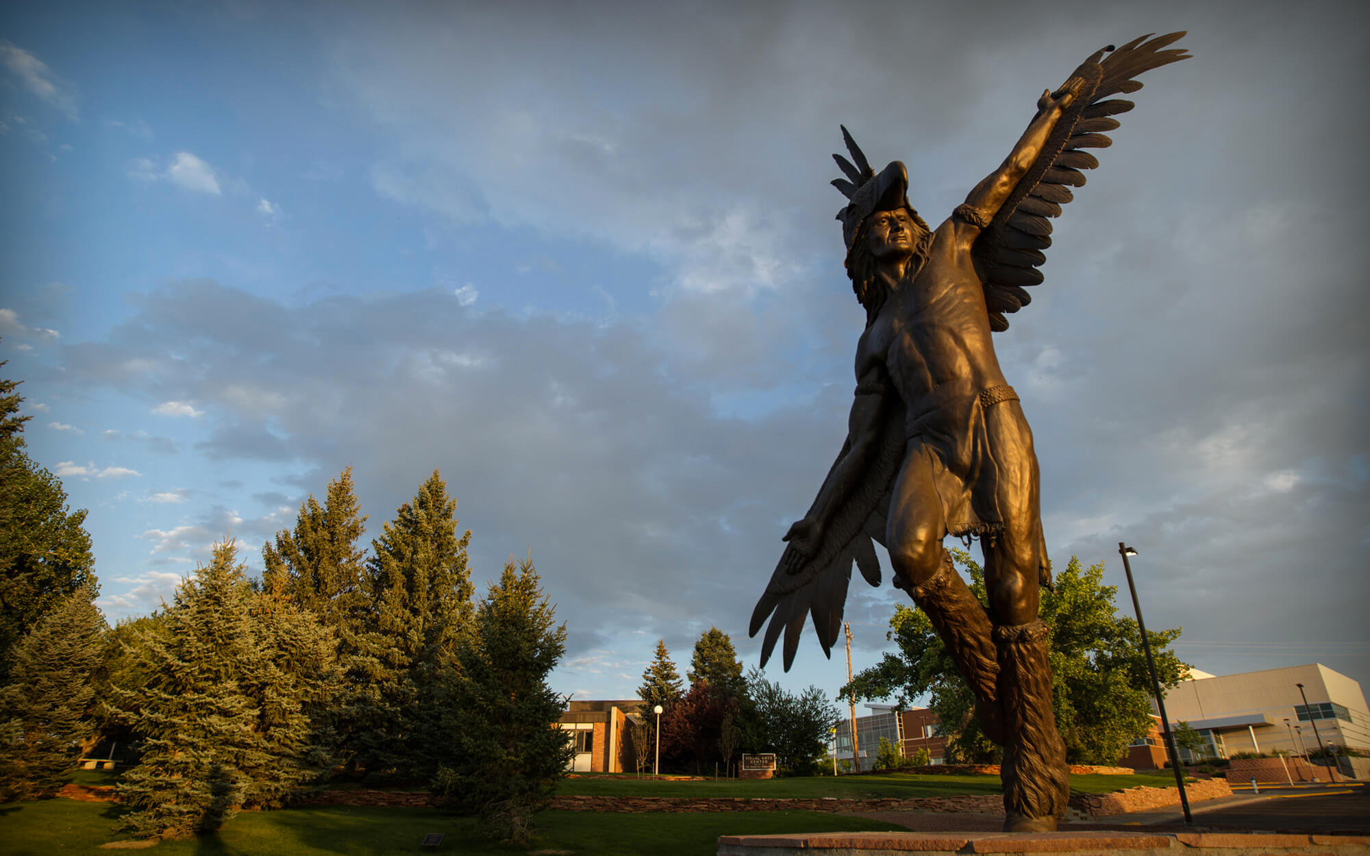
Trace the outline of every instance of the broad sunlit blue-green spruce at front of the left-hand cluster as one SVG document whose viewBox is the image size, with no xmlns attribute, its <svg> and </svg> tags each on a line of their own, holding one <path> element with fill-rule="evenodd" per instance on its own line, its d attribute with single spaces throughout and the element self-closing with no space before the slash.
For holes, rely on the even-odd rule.
<svg viewBox="0 0 1370 856">
<path fill-rule="evenodd" d="M 232 541 L 177 589 L 160 627 L 136 629 L 137 686 L 111 686 L 115 716 L 142 738 L 121 798 L 138 837 L 215 830 L 238 808 L 278 805 L 315 774 L 308 719 L 336 667 L 318 622 L 253 596 Z"/>
</svg>

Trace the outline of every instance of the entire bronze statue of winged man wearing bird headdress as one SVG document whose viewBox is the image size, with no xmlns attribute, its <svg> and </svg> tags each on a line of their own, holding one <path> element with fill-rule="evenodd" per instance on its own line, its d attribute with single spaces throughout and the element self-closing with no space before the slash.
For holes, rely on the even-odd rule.
<svg viewBox="0 0 1370 856">
<path fill-rule="evenodd" d="M 1048 631 L 1037 618 L 1038 585 L 1051 586 L 1037 456 L 992 333 L 1029 301 L 1025 286 L 1043 281 L 1047 218 L 1085 184 L 1081 170 L 1099 166 L 1084 149 L 1110 145 L 1101 131 L 1133 107 L 1110 96 L 1140 89 L 1133 78 L 1143 71 L 1188 59 L 1162 49 L 1181 36 L 1110 45 L 1043 93 L 1004 163 L 936 230 L 908 204 L 903 163 L 877 175 L 845 127 L 852 160 L 833 155 L 847 175 L 833 182 L 849 200 L 837 215 L 847 274 L 866 308 L 855 401 L 818 499 L 785 534 L 751 634 L 771 616 L 762 664 L 784 631 L 789 670 L 812 615 L 829 653 L 852 563 L 880 585 L 871 540 L 882 544 L 895 585 L 932 619 L 974 690 L 981 727 L 1004 746 L 1008 831 L 1055 829 L 1070 783 L 1052 716 Z M 952 567 L 947 536 L 980 540 L 988 608 Z"/>
</svg>

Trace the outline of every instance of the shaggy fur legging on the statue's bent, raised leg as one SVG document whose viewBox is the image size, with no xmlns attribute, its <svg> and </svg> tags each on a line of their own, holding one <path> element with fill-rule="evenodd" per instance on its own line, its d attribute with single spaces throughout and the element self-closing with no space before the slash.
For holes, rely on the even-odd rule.
<svg viewBox="0 0 1370 856">
<path fill-rule="evenodd" d="M 895 585 L 908 592 L 937 629 L 958 671 L 975 694 L 975 716 L 985 737 L 996 744 L 1004 742 L 999 663 L 991 637 L 993 626 L 985 607 L 956 572 L 951 553 L 943 551 L 941 566 L 922 585 L 907 585 L 899 578 Z"/>
</svg>

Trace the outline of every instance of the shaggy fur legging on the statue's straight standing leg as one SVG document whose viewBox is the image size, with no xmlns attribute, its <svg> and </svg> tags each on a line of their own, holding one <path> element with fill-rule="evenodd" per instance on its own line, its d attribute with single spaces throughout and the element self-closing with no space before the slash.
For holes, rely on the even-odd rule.
<svg viewBox="0 0 1370 856">
<path fill-rule="evenodd" d="M 1000 768 L 1004 829 L 1055 829 L 1070 798 L 1070 768 L 1051 708 L 1047 625 L 1036 620 L 995 627 L 995 642 L 999 648 L 999 703 L 1008 738 Z"/>
</svg>

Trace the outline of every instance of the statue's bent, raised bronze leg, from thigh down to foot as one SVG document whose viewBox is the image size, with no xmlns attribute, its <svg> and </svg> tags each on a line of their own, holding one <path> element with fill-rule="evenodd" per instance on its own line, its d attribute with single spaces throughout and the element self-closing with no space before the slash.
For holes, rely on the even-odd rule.
<svg viewBox="0 0 1370 856">
<path fill-rule="evenodd" d="M 985 607 L 956 572 L 943 548 L 947 531 L 927 452 L 911 444 L 885 529 L 895 585 L 908 592 L 937 629 L 956 670 L 975 694 L 975 716 L 985 737 L 1004 742 L 999 707 L 999 663 Z"/>
</svg>

